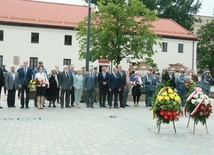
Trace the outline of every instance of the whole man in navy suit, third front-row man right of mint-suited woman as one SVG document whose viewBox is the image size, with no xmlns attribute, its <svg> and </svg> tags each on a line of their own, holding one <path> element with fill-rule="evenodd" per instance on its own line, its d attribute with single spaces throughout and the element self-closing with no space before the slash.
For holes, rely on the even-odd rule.
<svg viewBox="0 0 214 155">
<path fill-rule="evenodd" d="M 119 109 L 118 107 L 118 93 L 121 91 L 121 76 L 118 74 L 118 69 L 114 68 L 113 73 L 109 75 L 108 79 L 108 89 L 110 91 L 109 97 L 109 109 L 112 108 L 112 98 L 114 95 L 114 108 Z"/>
</svg>

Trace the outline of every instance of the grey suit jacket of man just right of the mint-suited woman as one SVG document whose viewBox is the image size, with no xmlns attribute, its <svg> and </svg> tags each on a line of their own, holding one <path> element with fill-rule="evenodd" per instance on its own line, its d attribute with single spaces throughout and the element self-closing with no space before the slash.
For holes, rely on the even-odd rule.
<svg viewBox="0 0 214 155">
<path fill-rule="evenodd" d="M 95 73 L 92 73 L 93 78 L 90 76 L 90 72 L 85 74 L 83 87 L 87 90 L 97 89 L 97 76 Z"/>
</svg>

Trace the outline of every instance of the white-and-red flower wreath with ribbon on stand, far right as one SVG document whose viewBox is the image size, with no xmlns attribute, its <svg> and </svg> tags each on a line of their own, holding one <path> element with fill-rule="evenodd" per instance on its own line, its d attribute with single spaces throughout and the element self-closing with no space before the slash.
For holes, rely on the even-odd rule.
<svg viewBox="0 0 214 155">
<path fill-rule="evenodd" d="M 195 123 L 201 122 L 203 125 L 206 123 L 206 119 L 209 118 L 212 113 L 212 105 L 209 97 L 203 93 L 202 89 L 197 87 L 195 91 L 189 95 L 186 100 L 185 106 L 186 112 L 190 117 L 195 120 Z"/>
</svg>

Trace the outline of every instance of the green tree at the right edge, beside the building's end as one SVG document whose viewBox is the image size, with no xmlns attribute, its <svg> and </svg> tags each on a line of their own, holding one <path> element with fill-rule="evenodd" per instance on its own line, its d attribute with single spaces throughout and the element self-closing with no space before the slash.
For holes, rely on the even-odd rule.
<svg viewBox="0 0 214 155">
<path fill-rule="evenodd" d="M 214 75 L 214 20 L 198 31 L 197 67 L 202 73 L 209 69 Z"/>
</svg>

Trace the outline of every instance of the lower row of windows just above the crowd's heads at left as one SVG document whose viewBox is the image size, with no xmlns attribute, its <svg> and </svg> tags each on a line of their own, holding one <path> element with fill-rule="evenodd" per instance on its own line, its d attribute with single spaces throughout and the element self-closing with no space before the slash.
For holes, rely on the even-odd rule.
<svg viewBox="0 0 214 155">
<path fill-rule="evenodd" d="M 3 56 L 0 55 L 0 66 L 3 65 Z M 71 65 L 71 59 L 63 59 L 63 65 Z M 38 66 L 38 57 L 30 57 L 30 63 L 29 66 L 31 68 L 36 68 Z"/>
</svg>

